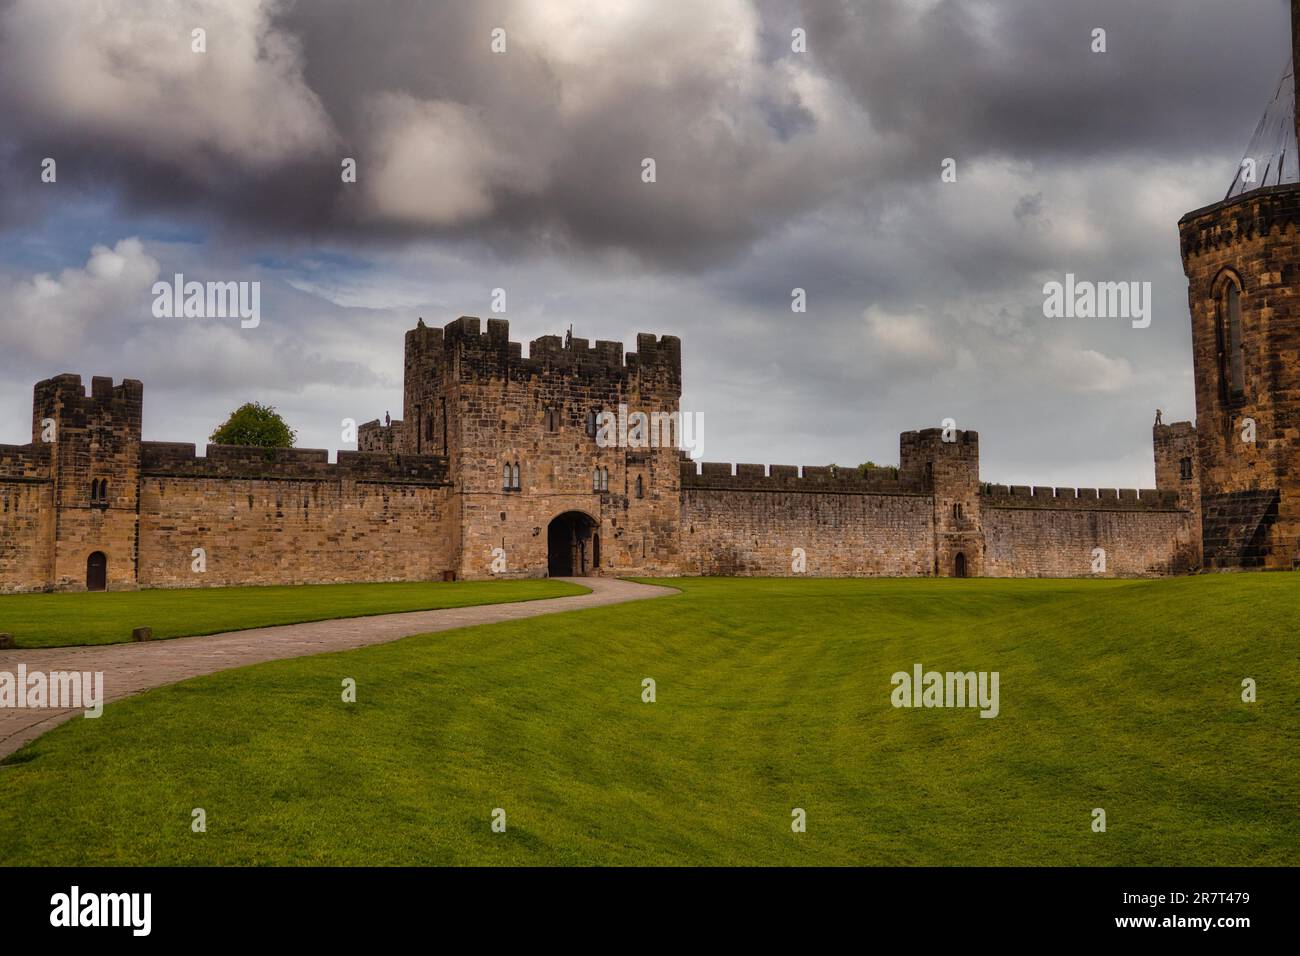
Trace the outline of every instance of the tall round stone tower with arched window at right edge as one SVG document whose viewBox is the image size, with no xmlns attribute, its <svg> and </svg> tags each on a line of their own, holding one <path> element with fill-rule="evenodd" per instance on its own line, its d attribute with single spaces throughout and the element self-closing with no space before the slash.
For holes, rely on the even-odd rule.
<svg viewBox="0 0 1300 956">
<path fill-rule="evenodd" d="M 1300 567 L 1300 166 L 1292 57 L 1227 196 L 1178 224 L 1206 570 Z"/>
</svg>

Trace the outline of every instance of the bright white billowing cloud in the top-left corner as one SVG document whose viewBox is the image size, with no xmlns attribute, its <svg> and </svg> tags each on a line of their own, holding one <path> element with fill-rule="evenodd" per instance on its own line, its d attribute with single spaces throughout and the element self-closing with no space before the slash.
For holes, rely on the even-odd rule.
<svg viewBox="0 0 1300 956">
<path fill-rule="evenodd" d="M 46 137 L 98 135 L 155 160 L 273 166 L 334 133 L 270 26 L 276 0 L 16 0 L 0 18 L 0 88 Z M 207 30 L 207 52 L 191 30 Z M 57 157 L 56 157 L 57 159 Z"/>
</svg>

